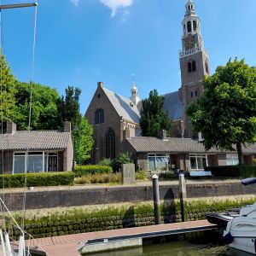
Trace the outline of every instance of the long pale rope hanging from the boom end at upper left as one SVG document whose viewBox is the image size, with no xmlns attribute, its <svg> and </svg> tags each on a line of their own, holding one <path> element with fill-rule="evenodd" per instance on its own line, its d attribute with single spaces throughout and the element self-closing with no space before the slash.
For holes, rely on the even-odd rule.
<svg viewBox="0 0 256 256">
<path fill-rule="evenodd" d="M 36 2 L 37 3 L 37 0 Z M 32 74 L 31 74 L 31 88 L 30 88 L 30 103 L 29 103 L 29 116 L 28 116 L 28 131 L 31 131 L 31 116 L 32 116 L 32 90 L 33 90 L 33 79 L 34 79 L 34 62 L 35 62 L 35 49 L 36 49 L 36 35 L 37 35 L 37 16 L 38 16 L 38 5 L 35 7 L 34 15 L 34 33 L 33 33 L 33 45 L 32 45 Z M 26 169 L 25 169 L 25 182 L 24 182 L 24 196 L 23 196 L 23 206 L 22 206 L 22 218 L 21 218 L 21 227 L 24 230 L 25 227 L 25 215 L 26 215 L 26 184 L 27 184 L 27 157 L 25 155 Z"/>
</svg>

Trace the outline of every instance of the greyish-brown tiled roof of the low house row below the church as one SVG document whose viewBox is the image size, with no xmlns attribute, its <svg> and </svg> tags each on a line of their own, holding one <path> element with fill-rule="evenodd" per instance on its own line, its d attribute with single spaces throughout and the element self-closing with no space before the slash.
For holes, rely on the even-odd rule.
<svg viewBox="0 0 256 256">
<path fill-rule="evenodd" d="M 217 153 L 234 153 L 234 151 L 222 151 L 217 148 L 206 150 L 202 143 L 190 138 L 167 137 L 162 140 L 157 137 L 131 137 L 127 139 L 137 153 L 194 153 L 194 154 L 217 154 Z M 242 147 L 244 154 L 255 154 L 256 144 Z M 236 153 L 236 151 L 235 151 Z"/>
</svg>

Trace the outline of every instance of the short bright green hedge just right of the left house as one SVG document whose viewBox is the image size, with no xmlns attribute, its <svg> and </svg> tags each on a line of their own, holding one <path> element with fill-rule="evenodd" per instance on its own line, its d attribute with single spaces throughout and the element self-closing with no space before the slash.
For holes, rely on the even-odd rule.
<svg viewBox="0 0 256 256">
<path fill-rule="evenodd" d="M 111 166 L 76 166 L 73 170 L 76 177 L 82 177 L 87 174 L 112 173 Z"/>
</svg>

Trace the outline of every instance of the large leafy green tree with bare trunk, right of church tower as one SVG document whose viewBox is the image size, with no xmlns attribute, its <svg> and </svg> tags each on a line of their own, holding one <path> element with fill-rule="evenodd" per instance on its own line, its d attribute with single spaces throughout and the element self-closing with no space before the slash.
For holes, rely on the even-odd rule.
<svg viewBox="0 0 256 256">
<path fill-rule="evenodd" d="M 218 67 L 186 113 L 206 149 L 237 150 L 242 164 L 241 146 L 256 140 L 256 68 L 237 59 Z"/>
</svg>

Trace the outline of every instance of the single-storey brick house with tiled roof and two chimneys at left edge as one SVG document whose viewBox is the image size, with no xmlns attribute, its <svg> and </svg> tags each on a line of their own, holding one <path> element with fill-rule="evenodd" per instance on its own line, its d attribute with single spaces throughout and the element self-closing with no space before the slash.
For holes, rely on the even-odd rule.
<svg viewBox="0 0 256 256">
<path fill-rule="evenodd" d="M 0 153 L 1 173 L 71 171 L 71 124 L 65 122 L 64 131 L 16 131 L 8 121 L 0 135 Z"/>
</svg>

